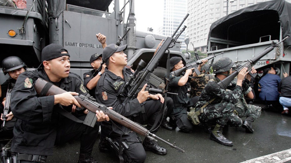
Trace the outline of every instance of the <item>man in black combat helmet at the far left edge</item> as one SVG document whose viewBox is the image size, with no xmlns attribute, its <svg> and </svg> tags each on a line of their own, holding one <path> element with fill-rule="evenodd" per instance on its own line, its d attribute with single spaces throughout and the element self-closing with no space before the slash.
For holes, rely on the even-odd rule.
<svg viewBox="0 0 291 163">
<path fill-rule="evenodd" d="M 17 56 L 10 56 L 5 58 L 2 61 L 2 70 L 3 73 L 6 75 L 9 75 L 9 78 L 1 84 L 1 111 L 3 111 L 5 102 L 6 102 L 6 93 L 8 89 L 13 89 L 16 79 L 18 76 L 23 73 L 27 69 L 27 66 L 25 63 Z M 1 120 L 3 114 L 1 114 Z M 13 113 L 10 111 L 7 115 L 7 120 L 5 121 L 5 124 L 1 124 L 1 130 L 0 130 L 0 137 L 13 137 L 13 127 L 14 123 L 16 121 L 16 118 L 13 116 Z"/>
</svg>

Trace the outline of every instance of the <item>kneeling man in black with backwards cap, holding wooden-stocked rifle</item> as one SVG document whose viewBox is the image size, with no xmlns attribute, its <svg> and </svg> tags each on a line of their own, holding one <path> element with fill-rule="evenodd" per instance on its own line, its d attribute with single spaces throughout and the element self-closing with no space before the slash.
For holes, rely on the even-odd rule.
<svg viewBox="0 0 291 163">
<path fill-rule="evenodd" d="M 45 162 L 47 156 L 53 154 L 54 144 L 81 138 L 78 162 L 97 162 L 91 157 L 91 153 L 97 139 L 98 125 L 89 127 L 59 113 L 61 109 L 71 112 L 72 104 L 81 107 L 73 95 L 87 94 L 82 81 L 69 73 L 69 59 L 68 51 L 62 46 L 50 44 L 43 48 L 41 66 L 19 76 L 11 100 L 11 109 L 17 118 L 11 145 L 13 159 L 16 161 Z M 40 97 L 34 89 L 38 78 L 68 92 Z M 86 112 L 78 110 L 72 114 L 83 120 Z M 96 116 L 98 121 L 109 120 L 102 112 L 97 112 Z"/>
</svg>

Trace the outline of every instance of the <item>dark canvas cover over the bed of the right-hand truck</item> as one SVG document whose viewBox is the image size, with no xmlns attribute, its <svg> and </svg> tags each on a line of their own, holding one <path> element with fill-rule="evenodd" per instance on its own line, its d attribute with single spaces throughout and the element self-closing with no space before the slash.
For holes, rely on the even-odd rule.
<svg viewBox="0 0 291 163">
<path fill-rule="evenodd" d="M 219 50 L 253 44 L 258 43 L 262 36 L 267 37 L 262 37 L 261 42 L 280 40 L 280 28 L 283 38 L 291 36 L 290 20 L 291 3 L 285 0 L 273 0 L 245 7 L 213 22 L 207 46 Z M 284 41 L 284 46 L 290 45 L 291 39 L 288 38 Z"/>
</svg>

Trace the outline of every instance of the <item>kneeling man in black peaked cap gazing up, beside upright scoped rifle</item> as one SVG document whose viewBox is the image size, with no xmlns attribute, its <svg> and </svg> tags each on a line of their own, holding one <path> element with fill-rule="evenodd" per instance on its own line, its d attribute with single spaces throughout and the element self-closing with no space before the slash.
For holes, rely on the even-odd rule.
<svg viewBox="0 0 291 163">
<path fill-rule="evenodd" d="M 158 119 L 158 112 L 163 108 L 164 98 L 161 94 L 153 95 L 145 91 L 146 84 L 138 93 L 137 98 L 132 100 L 128 100 L 126 96 L 129 89 L 126 89 L 124 94 L 122 93 L 123 86 L 132 74 L 130 69 L 125 68 L 127 65 L 127 55 L 123 53 L 123 50 L 126 48 L 127 45 L 119 47 L 114 44 L 104 48 L 102 56 L 107 69 L 105 69 L 97 84 L 97 102 L 103 103 L 106 106 L 112 106 L 114 111 L 135 122 L 148 124 L 147 128 L 150 129 L 155 120 Z M 148 98 L 154 100 L 146 101 Z M 172 107 L 172 99 L 167 98 L 167 108 L 171 109 Z M 124 159 L 126 162 L 144 162 L 146 158 L 145 150 L 153 151 L 159 155 L 167 154 L 165 148 L 148 138 L 145 138 L 142 144 L 135 132 L 120 124 L 101 122 L 101 128 L 106 137 L 118 142 L 118 144 L 127 144 L 122 146 L 124 150 L 118 154 L 119 158 Z M 155 128 L 153 133 L 157 131 L 158 128 Z"/>
</svg>

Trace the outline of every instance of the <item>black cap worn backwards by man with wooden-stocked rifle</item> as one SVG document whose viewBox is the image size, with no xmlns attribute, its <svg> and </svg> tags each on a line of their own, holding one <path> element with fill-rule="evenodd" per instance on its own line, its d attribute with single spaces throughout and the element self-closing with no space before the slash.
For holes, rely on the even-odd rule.
<svg viewBox="0 0 291 163">
<path fill-rule="evenodd" d="M 61 53 L 61 50 L 65 50 L 67 53 Z M 43 65 L 43 61 L 52 60 L 61 56 L 70 56 L 68 50 L 66 50 L 63 46 L 58 44 L 49 44 L 48 46 L 45 46 L 42 51 L 42 63 L 38 66 L 38 68 Z"/>
</svg>

